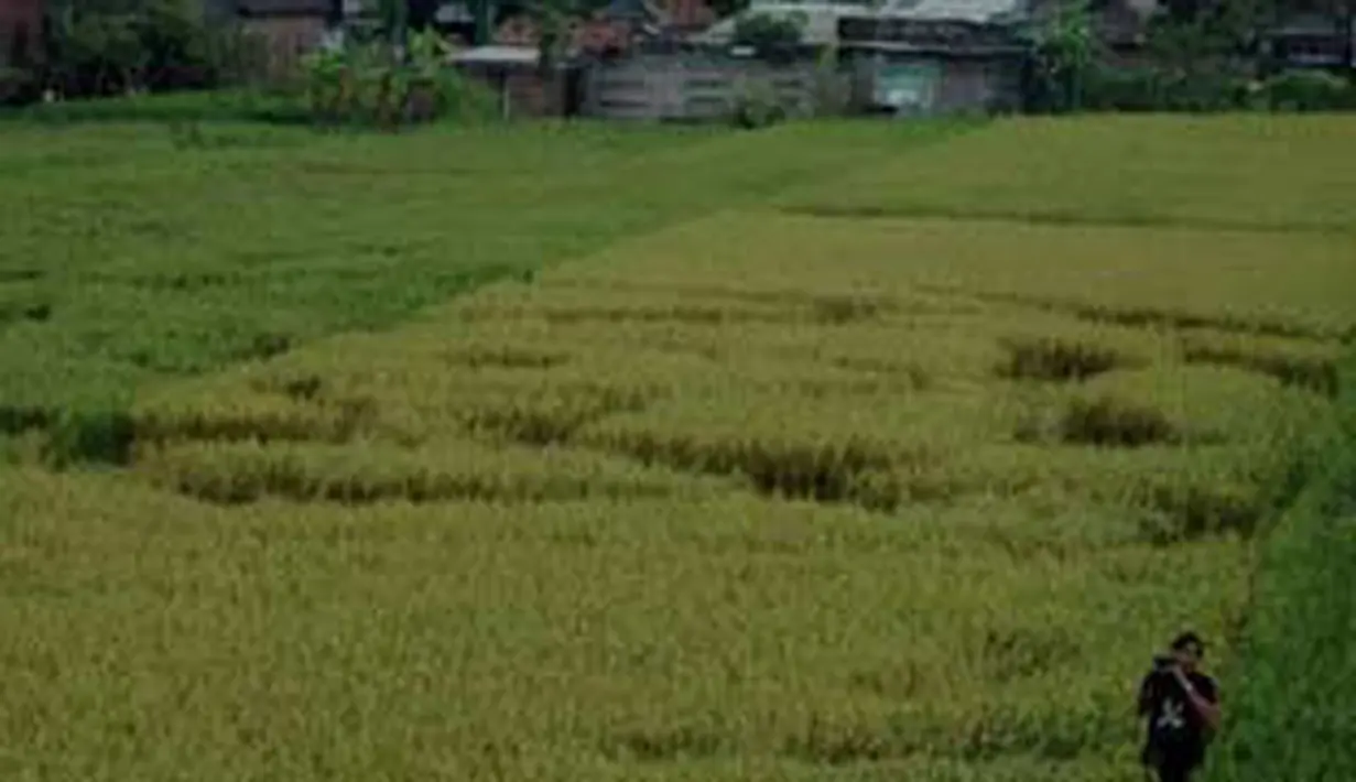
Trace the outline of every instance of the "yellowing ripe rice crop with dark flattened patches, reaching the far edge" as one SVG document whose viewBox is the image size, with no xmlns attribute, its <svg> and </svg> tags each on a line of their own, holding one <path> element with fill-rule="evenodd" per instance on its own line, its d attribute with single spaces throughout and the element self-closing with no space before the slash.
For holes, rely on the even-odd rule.
<svg viewBox="0 0 1356 782">
<path fill-rule="evenodd" d="M 1138 678 L 1229 665 L 1356 328 L 1310 209 L 1356 125 L 1210 122 L 689 140 L 628 165 L 757 187 L 129 381 L 113 469 L 19 435 L 0 774 L 1140 779 Z"/>
</svg>

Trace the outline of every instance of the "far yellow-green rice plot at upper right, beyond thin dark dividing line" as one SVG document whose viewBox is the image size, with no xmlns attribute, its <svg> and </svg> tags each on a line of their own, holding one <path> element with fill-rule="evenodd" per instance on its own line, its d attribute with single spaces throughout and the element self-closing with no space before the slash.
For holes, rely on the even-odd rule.
<svg viewBox="0 0 1356 782">
<path fill-rule="evenodd" d="M 1351 234 L 1356 160 L 1342 115 L 1102 115 L 1070 133 L 1060 119 L 1001 121 L 926 159 L 807 183 L 788 209 L 869 215 L 1119 224 Z M 1001 130 L 999 130 L 1001 129 Z M 903 183 L 907 182 L 907 186 Z"/>
</svg>

